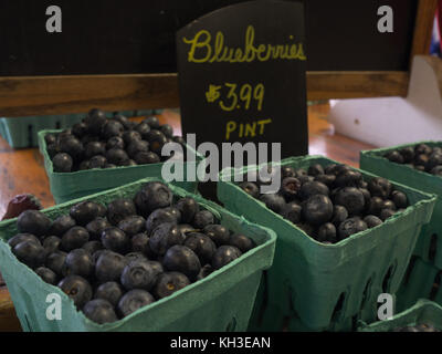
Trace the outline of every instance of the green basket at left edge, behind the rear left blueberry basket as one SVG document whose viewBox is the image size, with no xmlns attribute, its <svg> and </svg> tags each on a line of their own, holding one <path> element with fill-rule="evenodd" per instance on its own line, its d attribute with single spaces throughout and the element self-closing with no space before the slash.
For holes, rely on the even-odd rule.
<svg viewBox="0 0 442 354">
<path fill-rule="evenodd" d="M 40 131 L 67 128 L 83 118 L 83 114 L 0 118 L 0 135 L 12 148 L 35 147 Z"/>
</svg>

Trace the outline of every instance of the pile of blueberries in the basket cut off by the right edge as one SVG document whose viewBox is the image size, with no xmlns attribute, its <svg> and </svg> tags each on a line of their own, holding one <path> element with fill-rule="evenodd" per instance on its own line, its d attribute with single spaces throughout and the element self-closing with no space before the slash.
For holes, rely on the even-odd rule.
<svg viewBox="0 0 442 354">
<path fill-rule="evenodd" d="M 419 144 L 383 155 L 392 163 L 404 164 L 420 171 L 442 177 L 442 147 Z"/>
</svg>

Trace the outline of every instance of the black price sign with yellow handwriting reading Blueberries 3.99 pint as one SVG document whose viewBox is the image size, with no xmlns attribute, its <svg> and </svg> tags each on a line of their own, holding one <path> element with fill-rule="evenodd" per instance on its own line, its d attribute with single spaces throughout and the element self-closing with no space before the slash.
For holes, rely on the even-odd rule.
<svg viewBox="0 0 442 354">
<path fill-rule="evenodd" d="M 259 0 L 177 33 L 181 126 L 197 143 L 281 143 L 307 154 L 302 3 Z"/>
</svg>

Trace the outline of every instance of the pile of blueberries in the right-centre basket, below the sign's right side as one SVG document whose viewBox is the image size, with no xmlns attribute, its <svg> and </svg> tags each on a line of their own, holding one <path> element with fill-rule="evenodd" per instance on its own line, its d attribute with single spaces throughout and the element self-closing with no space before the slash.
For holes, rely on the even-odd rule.
<svg viewBox="0 0 442 354">
<path fill-rule="evenodd" d="M 322 243 L 337 243 L 381 225 L 409 206 L 407 195 L 394 190 L 389 180 L 376 177 L 365 181 L 347 165 L 314 164 L 308 170 L 284 166 L 281 174 L 267 169 L 269 178 L 256 174 L 256 183 L 239 186 Z M 270 185 L 272 178 L 282 178 L 280 190 L 260 194 L 260 186 Z"/>
</svg>

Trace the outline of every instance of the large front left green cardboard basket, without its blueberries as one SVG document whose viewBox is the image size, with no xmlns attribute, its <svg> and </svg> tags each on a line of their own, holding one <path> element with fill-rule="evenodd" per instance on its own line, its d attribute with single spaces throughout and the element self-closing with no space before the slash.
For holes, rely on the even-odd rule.
<svg viewBox="0 0 442 354">
<path fill-rule="evenodd" d="M 145 178 L 112 190 L 43 210 L 55 219 L 69 214 L 82 200 L 108 204 L 116 198 L 131 198 L 141 185 L 158 178 Z M 239 259 L 214 271 L 201 281 L 162 300 L 137 310 L 114 323 L 96 324 L 76 310 L 73 301 L 59 288 L 43 282 L 28 266 L 11 252 L 7 240 L 17 231 L 17 219 L 0 222 L 0 271 L 11 294 L 17 315 L 24 331 L 245 331 L 252 312 L 262 271 L 271 267 L 276 235 L 221 208 L 214 202 L 169 184 L 175 196 L 192 197 L 212 211 L 221 225 L 241 232 L 256 242 L 256 247 Z M 55 293 L 62 301 L 62 320 L 48 320 L 48 295 Z"/>
</svg>

